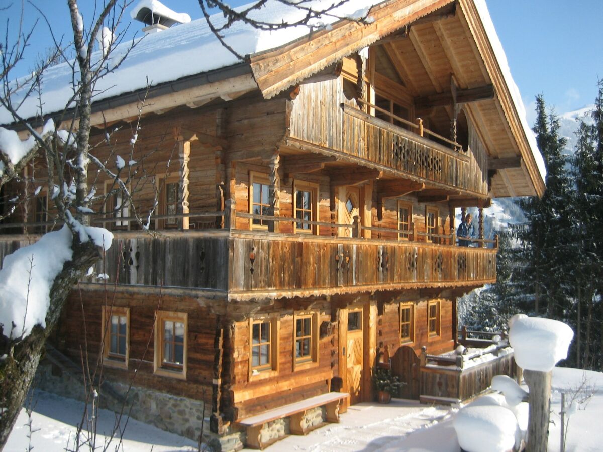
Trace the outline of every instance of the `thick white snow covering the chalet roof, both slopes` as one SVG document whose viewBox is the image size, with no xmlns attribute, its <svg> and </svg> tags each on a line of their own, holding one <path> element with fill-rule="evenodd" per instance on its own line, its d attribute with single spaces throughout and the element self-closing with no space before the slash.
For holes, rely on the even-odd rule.
<svg viewBox="0 0 603 452">
<path fill-rule="evenodd" d="M 496 54 L 500 71 L 510 90 L 514 107 L 517 110 L 517 115 L 529 143 L 529 148 L 534 155 L 534 160 L 544 180 L 546 175 L 545 165 L 538 151 L 534 134 L 526 122 L 525 107 L 519 95 L 519 90 L 511 77 L 507 57 L 494 30 L 486 2 L 485 0 L 474 0 L 474 2 L 481 21 L 484 24 L 488 39 Z M 329 28 L 329 24 L 336 22 L 338 17 L 364 17 L 370 7 L 378 3 L 376 0 L 348 0 L 333 10 L 332 15 L 323 16 L 320 19 L 311 19 L 306 25 L 283 28 L 276 31 L 257 30 L 239 21 L 232 24 L 227 30 L 224 30 L 222 34 L 224 41 L 235 49 L 238 54 L 253 55 L 283 46 L 286 43 L 316 31 L 318 28 Z M 332 1 L 313 0 L 306 5 L 320 9 L 329 7 L 332 5 Z M 247 6 L 244 5 L 241 8 L 246 8 Z M 165 5 L 160 4 L 157 0 L 141 0 L 131 10 L 131 15 L 136 17 L 145 8 L 155 11 L 157 14 L 171 17 L 171 19 L 178 22 L 186 22 L 185 15 L 175 13 L 165 7 Z M 254 10 L 250 16 L 265 22 L 274 23 L 281 20 L 295 22 L 295 20 L 303 18 L 305 12 L 298 8 L 284 5 L 281 2 L 268 0 L 264 8 Z M 214 14 L 211 19 L 216 25 L 223 24 L 225 20 L 221 13 Z M 130 42 L 124 42 L 113 50 L 107 62 L 109 69 L 112 69 L 112 65 L 120 61 L 128 50 L 129 54 L 118 69 L 115 69 L 115 71 L 98 81 L 95 87 L 95 102 L 113 98 L 124 93 L 144 90 L 147 87 L 147 81 L 153 87 L 183 77 L 203 74 L 204 72 L 240 63 L 235 55 L 219 43 L 203 18 L 178 25 L 177 27 L 168 28 L 167 30 L 163 30 L 162 33 L 149 34 L 142 37 L 133 49 L 130 49 L 130 46 Z M 93 60 L 99 61 L 100 58 L 101 52 L 93 54 Z M 24 118 L 32 118 L 63 110 L 66 100 L 73 95 L 71 80 L 72 70 L 67 63 L 46 69 L 42 75 L 43 111 L 40 111 L 40 102 L 37 96 L 31 96 L 19 108 L 19 115 Z M 25 79 L 21 79 L 15 83 L 24 84 Z M 13 105 L 17 105 L 22 100 L 19 98 L 19 95 L 22 96 L 24 92 L 24 89 L 17 92 L 13 98 Z M 0 124 L 10 124 L 11 122 L 13 122 L 13 118 L 10 113 L 4 110 L 4 108 L 0 108 Z"/>
</svg>

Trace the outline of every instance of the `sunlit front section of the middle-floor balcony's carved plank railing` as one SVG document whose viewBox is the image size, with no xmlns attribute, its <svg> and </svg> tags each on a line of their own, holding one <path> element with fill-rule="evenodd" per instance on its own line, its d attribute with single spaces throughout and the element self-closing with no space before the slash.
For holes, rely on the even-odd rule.
<svg viewBox="0 0 603 452">
<path fill-rule="evenodd" d="M 401 240 L 232 231 L 233 292 L 359 292 L 481 285 L 496 280 L 496 250 Z"/>
</svg>

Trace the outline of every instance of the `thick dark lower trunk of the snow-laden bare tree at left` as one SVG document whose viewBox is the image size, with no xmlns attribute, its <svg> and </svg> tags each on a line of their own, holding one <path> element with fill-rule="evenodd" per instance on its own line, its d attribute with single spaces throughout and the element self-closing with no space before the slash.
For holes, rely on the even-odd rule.
<svg viewBox="0 0 603 452">
<path fill-rule="evenodd" d="M 0 336 L 0 450 L 4 448 L 14 422 L 36 374 L 46 338 L 60 318 L 63 305 L 74 284 L 83 276 L 85 269 L 101 258 L 99 248 L 93 243 L 77 243 L 74 240 L 74 257 L 65 263 L 63 270 L 54 280 L 50 292 L 50 307 L 46 315 L 46 328 L 39 325 L 21 341 L 10 341 Z"/>
</svg>

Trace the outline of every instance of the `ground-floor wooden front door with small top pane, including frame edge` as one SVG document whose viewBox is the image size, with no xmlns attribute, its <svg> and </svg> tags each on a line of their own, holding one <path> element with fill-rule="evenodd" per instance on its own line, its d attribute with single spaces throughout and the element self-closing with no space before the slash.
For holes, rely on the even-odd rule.
<svg viewBox="0 0 603 452">
<path fill-rule="evenodd" d="M 366 394 L 370 394 L 370 388 L 365 388 L 363 383 L 367 371 L 364 368 L 364 307 L 340 309 L 339 327 L 339 356 L 343 361 L 339 369 L 343 389 L 350 394 L 350 404 L 355 404 L 366 400 Z"/>
</svg>

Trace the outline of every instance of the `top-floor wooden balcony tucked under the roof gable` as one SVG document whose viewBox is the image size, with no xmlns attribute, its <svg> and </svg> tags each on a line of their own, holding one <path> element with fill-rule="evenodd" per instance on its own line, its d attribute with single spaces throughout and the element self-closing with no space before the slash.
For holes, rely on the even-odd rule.
<svg viewBox="0 0 603 452">
<path fill-rule="evenodd" d="M 359 165 L 390 171 L 427 187 L 487 195 L 485 175 L 468 149 L 463 151 L 458 144 L 427 130 L 423 133 L 422 126 L 402 118 L 396 120 L 408 123 L 412 131 L 368 115 L 343 101 L 337 89 L 336 84 L 324 84 L 320 94 L 300 94 L 292 107 L 289 145 L 344 154 Z M 305 111 L 315 113 L 305 115 Z M 321 118 L 323 125 L 315 124 L 313 117 Z"/>
</svg>

